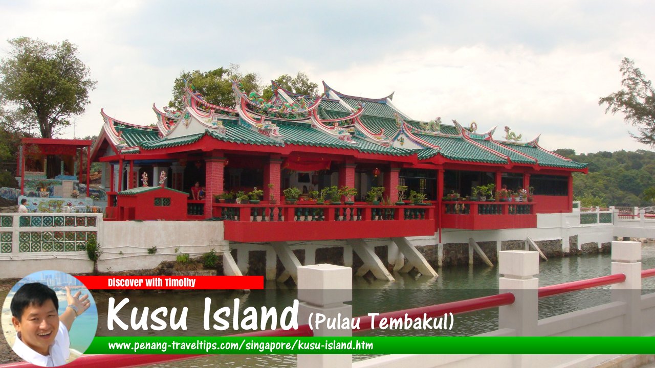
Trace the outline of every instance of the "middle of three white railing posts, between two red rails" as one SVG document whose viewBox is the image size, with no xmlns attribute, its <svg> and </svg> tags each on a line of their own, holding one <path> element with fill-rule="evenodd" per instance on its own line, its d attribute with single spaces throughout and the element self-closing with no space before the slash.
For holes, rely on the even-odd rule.
<svg viewBox="0 0 655 368">
<path fill-rule="evenodd" d="M 536 251 L 500 251 L 499 293 L 513 293 L 514 303 L 498 308 L 498 328 L 510 328 L 517 336 L 536 336 L 538 320 L 539 253 Z"/>
</svg>

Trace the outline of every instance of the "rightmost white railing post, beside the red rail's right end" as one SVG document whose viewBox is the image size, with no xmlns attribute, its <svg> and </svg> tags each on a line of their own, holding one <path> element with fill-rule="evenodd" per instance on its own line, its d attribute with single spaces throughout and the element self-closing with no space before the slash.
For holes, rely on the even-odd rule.
<svg viewBox="0 0 655 368">
<path fill-rule="evenodd" d="M 627 304 L 624 335 L 641 335 L 641 242 L 612 242 L 612 274 L 626 281 L 612 284 L 612 301 Z"/>
</svg>

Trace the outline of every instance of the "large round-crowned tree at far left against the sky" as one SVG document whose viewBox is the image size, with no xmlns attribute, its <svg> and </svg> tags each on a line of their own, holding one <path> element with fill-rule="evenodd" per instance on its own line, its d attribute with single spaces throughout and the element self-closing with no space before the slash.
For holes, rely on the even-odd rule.
<svg viewBox="0 0 655 368">
<path fill-rule="evenodd" d="M 50 45 L 20 37 L 9 45 L 10 56 L 0 65 L 0 98 L 13 107 L 21 130 L 38 128 L 41 137 L 52 138 L 71 117 L 84 113 L 96 82 L 69 41 Z"/>
</svg>

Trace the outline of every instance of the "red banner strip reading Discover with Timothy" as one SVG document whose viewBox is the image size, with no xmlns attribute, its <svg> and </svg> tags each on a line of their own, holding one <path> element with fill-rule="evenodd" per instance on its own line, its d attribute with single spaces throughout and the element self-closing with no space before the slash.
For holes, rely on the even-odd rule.
<svg viewBox="0 0 655 368">
<path fill-rule="evenodd" d="M 264 276 L 76 276 L 88 289 L 263 289 Z"/>
</svg>

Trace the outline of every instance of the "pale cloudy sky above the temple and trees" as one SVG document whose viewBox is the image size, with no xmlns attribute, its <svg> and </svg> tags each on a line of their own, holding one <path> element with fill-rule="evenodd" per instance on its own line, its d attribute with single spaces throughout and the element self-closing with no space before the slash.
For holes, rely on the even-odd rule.
<svg viewBox="0 0 655 368">
<path fill-rule="evenodd" d="M 599 98 L 620 89 L 624 57 L 655 79 L 653 1 L 5 1 L 7 39 L 68 39 L 98 86 L 75 136 L 100 109 L 151 124 L 183 70 L 230 63 L 261 82 L 304 71 L 356 96 L 395 91 L 413 119 L 542 134 L 548 149 L 649 149 Z M 64 137 L 73 136 L 73 128 Z"/>
</svg>

